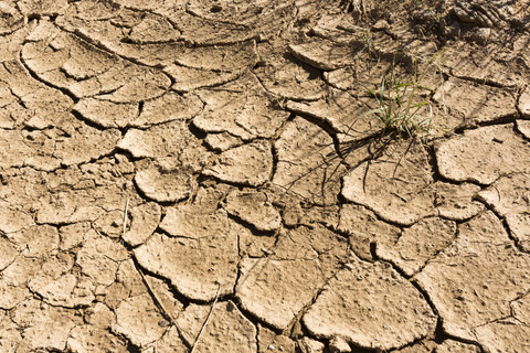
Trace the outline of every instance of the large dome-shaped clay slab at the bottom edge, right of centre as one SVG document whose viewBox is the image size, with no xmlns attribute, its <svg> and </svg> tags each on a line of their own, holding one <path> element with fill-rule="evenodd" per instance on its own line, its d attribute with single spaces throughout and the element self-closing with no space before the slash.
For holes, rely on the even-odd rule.
<svg viewBox="0 0 530 353">
<path fill-rule="evenodd" d="M 385 351 L 434 330 L 436 315 L 423 295 L 390 265 L 356 259 L 346 266 L 304 315 L 309 332 Z"/>
</svg>

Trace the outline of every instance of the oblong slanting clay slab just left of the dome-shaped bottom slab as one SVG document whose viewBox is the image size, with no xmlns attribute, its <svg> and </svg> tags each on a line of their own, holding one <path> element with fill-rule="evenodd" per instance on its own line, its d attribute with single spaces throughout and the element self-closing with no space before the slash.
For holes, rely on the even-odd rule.
<svg viewBox="0 0 530 353">
<path fill-rule="evenodd" d="M 285 231 L 268 257 L 243 259 L 242 307 L 284 330 L 347 259 L 347 244 L 322 226 Z"/>
</svg>

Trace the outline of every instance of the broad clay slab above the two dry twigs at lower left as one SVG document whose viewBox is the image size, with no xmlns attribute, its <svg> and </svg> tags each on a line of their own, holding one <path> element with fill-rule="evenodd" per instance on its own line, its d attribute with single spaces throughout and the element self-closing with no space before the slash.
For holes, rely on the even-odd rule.
<svg viewBox="0 0 530 353">
<path fill-rule="evenodd" d="M 160 227 L 135 249 L 146 269 L 168 278 L 183 296 L 208 301 L 233 292 L 237 277 L 237 228 L 223 210 L 208 212 L 198 205 L 169 208 Z"/>
</svg>

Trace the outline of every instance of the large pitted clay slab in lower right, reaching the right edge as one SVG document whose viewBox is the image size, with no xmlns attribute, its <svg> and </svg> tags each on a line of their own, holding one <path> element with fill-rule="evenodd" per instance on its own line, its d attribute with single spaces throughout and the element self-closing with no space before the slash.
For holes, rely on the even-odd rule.
<svg viewBox="0 0 530 353">
<path fill-rule="evenodd" d="M 477 330 L 509 318 L 510 304 L 530 290 L 530 255 L 515 247 L 490 211 L 458 231 L 453 244 L 414 279 L 430 296 L 448 334 L 481 343 L 487 338 Z M 499 329 L 502 344 L 520 341 L 521 336 L 510 334 L 517 330 Z"/>
</svg>

